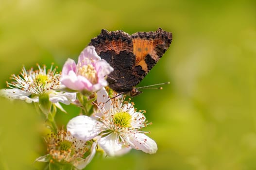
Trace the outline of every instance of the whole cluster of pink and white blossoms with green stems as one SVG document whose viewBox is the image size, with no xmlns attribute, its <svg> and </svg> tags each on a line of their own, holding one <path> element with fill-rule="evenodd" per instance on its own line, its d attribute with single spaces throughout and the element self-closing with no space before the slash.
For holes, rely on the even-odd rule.
<svg viewBox="0 0 256 170">
<path fill-rule="evenodd" d="M 12 75 L 12 82 L 0 90 L 0 96 L 12 100 L 34 102 L 46 116 L 51 134 L 45 137 L 47 154 L 36 159 L 47 162 L 49 169 L 82 170 L 97 151 L 118 156 L 131 149 L 156 153 L 157 145 L 142 128 L 150 125 L 145 111 L 134 108 L 125 96 L 109 97 L 106 78 L 114 69 L 88 46 L 81 52 L 77 64 L 68 59 L 58 73 L 57 68 L 26 70 Z M 109 90 L 111 91 L 111 89 Z M 118 94 L 116 94 L 118 96 Z M 67 130 L 59 130 L 55 122 L 56 109 L 63 104 L 81 108 L 80 115 L 70 119 Z"/>
</svg>

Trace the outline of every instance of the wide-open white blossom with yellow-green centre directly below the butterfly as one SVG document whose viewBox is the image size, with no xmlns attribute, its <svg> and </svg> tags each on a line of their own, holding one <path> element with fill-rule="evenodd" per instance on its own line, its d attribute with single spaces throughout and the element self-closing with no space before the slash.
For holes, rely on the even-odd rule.
<svg viewBox="0 0 256 170">
<path fill-rule="evenodd" d="M 137 149 L 145 153 L 155 153 L 157 145 L 141 129 L 147 123 L 143 111 L 137 111 L 133 103 L 109 97 L 104 88 L 98 92 L 99 113 L 92 117 L 77 116 L 68 122 L 67 130 L 81 140 L 90 140 L 96 136 L 99 146 L 109 156 L 121 155 Z"/>
</svg>

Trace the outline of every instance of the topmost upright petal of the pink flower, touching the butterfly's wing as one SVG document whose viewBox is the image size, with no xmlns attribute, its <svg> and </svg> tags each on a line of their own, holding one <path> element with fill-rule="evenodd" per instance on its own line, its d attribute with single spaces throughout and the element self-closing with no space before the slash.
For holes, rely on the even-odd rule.
<svg viewBox="0 0 256 170">
<path fill-rule="evenodd" d="M 87 61 L 91 61 L 92 60 L 101 60 L 101 57 L 97 54 L 97 52 L 95 51 L 95 47 L 93 46 L 87 46 L 79 55 L 78 57 L 78 65 L 81 64 L 81 66 L 89 64 L 89 63 L 85 63 L 86 60 L 85 58 L 89 59 Z"/>
</svg>

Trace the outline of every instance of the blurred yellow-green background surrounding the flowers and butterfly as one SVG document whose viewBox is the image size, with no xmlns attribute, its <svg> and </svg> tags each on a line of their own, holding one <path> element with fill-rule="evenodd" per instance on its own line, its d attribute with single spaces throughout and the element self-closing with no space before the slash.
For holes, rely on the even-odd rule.
<svg viewBox="0 0 256 170">
<path fill-rule="evenodd" d="M 101 29 L 173 33 L 133 101 L 146 110 L 156 154 L 96 155 L 88 170 L 256 170 L 255 0 L 0 0 L 0 88 L 22 65 L 62 68 Z M 78 114 L 58 113 L 60 122 Z M 0 170 L 40 170 L 42 119 L 0 98 Z M 61 126 L 61 125 L 60 125 Z"/>
</svg>

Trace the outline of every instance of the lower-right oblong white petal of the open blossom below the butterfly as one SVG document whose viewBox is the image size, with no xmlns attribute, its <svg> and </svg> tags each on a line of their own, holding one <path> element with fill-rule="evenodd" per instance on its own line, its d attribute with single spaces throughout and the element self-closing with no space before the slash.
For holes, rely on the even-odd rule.
<svg viewBox="0 0 256 170">
<path fill-rule="evenodd" d="M 136 133 L 133 136 L 130 136 L 129 140 L 130 146 L 134 149 L 141 150 L 145 153 L 156 153 L 157 145 L 153 139 L 146 136 L 145 134 Z"/>
</svg>

